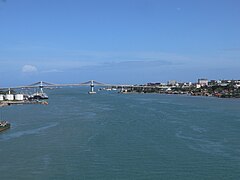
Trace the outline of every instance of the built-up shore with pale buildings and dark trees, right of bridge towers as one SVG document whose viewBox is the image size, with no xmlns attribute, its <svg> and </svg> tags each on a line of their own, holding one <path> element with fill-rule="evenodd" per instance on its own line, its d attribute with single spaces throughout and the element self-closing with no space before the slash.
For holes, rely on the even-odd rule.
<svg viewBox="0 0 240 180">
<path fill-rule="evenodd" d="M 125 92 L 135 93 L 164 93 L 164 94 L 189 94 L 192 96 L 214 96 L 219 98 L 240 98 L 240 81 L 224 80 L 211 81 L 208 85 L 201 86 L 197 83 L 176 83 L 165 85 L 161 83 L 148 83 L 147 85 L 133 86 Z"/>
</svg>

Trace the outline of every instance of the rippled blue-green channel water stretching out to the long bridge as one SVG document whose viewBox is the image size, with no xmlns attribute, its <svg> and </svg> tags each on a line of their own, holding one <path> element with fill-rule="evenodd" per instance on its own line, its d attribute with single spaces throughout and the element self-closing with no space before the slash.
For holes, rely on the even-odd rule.
<svg viewBox="0 0 240 180">
<path fill-rule="evenodd" d="M 2 108 L 0 178 L 239 179 L 240 100 L 68 88 Z"/>
</svg>

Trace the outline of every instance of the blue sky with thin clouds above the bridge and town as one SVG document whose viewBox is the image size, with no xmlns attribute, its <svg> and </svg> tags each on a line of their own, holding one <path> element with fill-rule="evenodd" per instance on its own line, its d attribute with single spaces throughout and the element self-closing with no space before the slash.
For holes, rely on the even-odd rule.
<svg viewBox="0 0 240 180">
<path fill-rule="evenodd" d="M 0 87 L 240 79 L 239 0 L 0 0 Z"/>
</svg>

